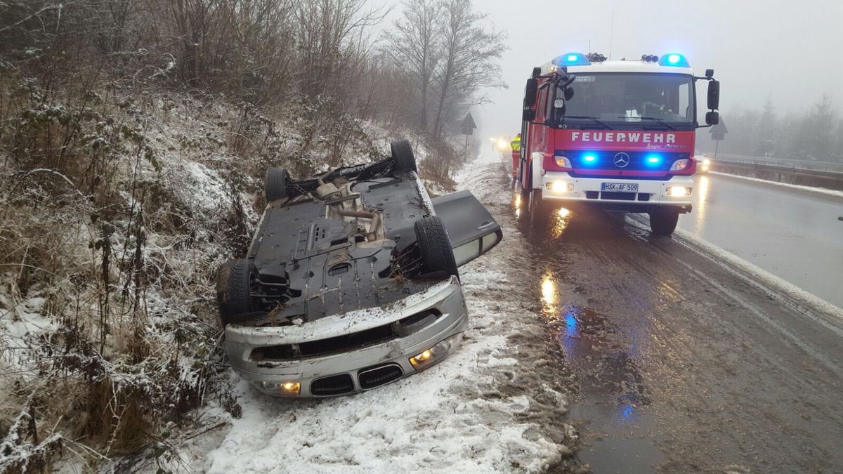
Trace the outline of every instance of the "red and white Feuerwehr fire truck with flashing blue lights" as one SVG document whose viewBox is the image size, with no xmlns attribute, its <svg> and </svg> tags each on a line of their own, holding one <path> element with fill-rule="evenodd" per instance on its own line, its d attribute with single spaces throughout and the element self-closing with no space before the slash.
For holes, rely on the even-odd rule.
<svg viewBox="0 0 843 474">
<path fill-rule="evenodd" d="M 701 80 L 705 125 L 696 110 Z M 714 70 L 695 76 L 678 53 L 606 61 L 572 52 L 534 67 L 521 129 L 523 213 L 647 213 L 652 234 L 673 234 L 679 214 L 691 211 L 695 130 L 717 124 L 719 97 Z"/>
</svg>

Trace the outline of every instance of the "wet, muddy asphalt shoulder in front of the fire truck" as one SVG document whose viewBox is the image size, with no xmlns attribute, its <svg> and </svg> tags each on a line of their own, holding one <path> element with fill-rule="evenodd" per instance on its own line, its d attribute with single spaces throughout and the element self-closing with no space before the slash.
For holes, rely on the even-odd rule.
<svg viewBox="0 0 843 474">
<path fill-rule="evenodd" d="M 513 199 L 513 206 L 518 205 Z M 841 472 L 843 320 L 638 218 L 530 226 L 594 472 Z"/>
</svg>

